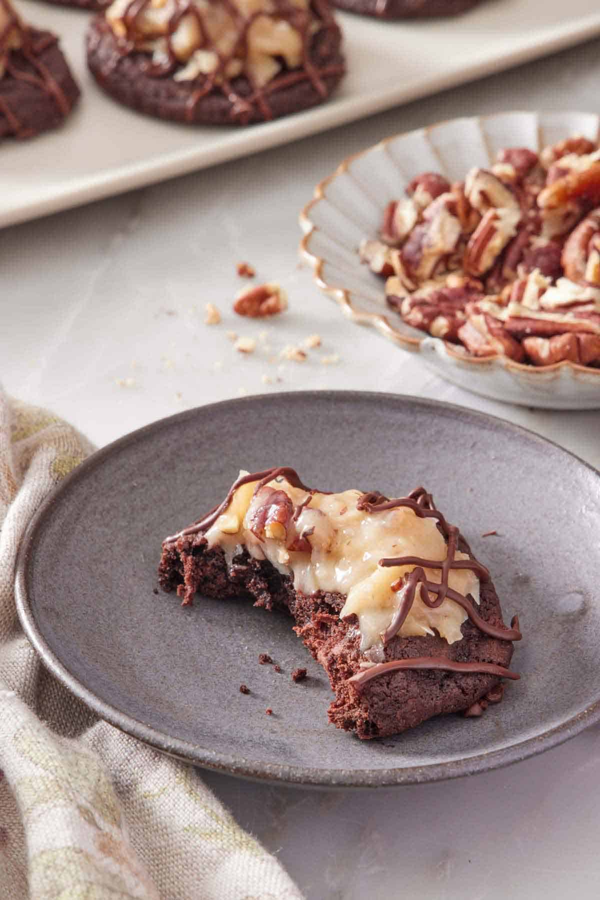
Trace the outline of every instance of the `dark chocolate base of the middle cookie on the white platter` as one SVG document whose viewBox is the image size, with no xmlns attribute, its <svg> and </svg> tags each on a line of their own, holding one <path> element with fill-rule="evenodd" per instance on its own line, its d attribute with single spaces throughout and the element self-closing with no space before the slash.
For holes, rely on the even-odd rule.
<svg viewBox="0 0 600 900">
<path fill-rule="evenodd" d="M 249 116 L 243 119 L 236 117 L 233 114 L 233 103 L 218 88 L 202 97 L 191 110 L 190 100 L 198 91 L 200 83 L 178 82 L 171 76 L 149 76 L 146 72 L 148 54 L 121 55 L 111 28 L 101 16 L 90 23 L 85 44 L 87 64 L 98 84 L 114 100 L 138 112 L 195 125 L 234 125 L 265 121 L 258 104 L 255 104 Z M 313 63 L 321 67 L 339 67 L 335 74 L 322 79 L 327 97 L 344 75 L 344 57 L 340 52 L 340 45 L 341 34 L 336 28 L 319 31 L 313 39 Z M 252 93 L 246 78 L 233 79 L 232 86 L 244 98 Z M 267 102 L 271 118 L 277 119 L 323 103 L 327 97 L 321 96 L 309 80 L 303 80 L 274 90 L 267 95 Z"/>
</svg>

